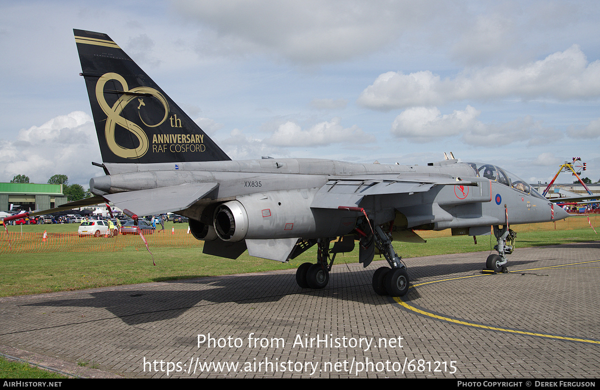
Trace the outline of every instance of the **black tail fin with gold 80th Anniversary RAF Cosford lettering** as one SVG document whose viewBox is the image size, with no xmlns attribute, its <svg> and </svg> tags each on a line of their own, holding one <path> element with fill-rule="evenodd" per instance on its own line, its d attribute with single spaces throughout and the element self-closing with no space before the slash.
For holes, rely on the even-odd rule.
<svg viewBox="0 0 600 390">
<path fill-rule="evenodd" d="M 231 160 L 108 35 L 73 32 L 104 163 Z"/>
</svg>

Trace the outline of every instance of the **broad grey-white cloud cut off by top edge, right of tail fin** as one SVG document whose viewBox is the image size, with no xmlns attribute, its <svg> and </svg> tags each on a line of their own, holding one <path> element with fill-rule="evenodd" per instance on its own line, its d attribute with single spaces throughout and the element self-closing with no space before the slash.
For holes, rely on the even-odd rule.
<svg viewBox="0 0 600 390">
<path fill-rule="evenodd" d="M 425 2 L 352 0 L 174 2 L 179 14 L 216 32 L 222 43 L 267 50 L 302 64 L 346 61 L 393 43 L 431 17 Z M 436 9 L 443 8 L 442 5 Z M 426 11 L 429 11 L 427 14 Z"/>
</svg>

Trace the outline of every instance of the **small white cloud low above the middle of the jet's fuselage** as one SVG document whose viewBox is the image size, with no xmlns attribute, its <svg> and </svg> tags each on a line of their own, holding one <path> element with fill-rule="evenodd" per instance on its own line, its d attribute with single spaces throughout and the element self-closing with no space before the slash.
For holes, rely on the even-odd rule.
<svg viewBox="0 0 600 390">
<path fill-rule="evenodd" d="M 369 143 L 375 138 L 356 125 L 344 128 L 341 118 L 320 122 L 306 130 L 292 121 L 281 124 L 265 141 L 277 146 L 325 146 L 332 143 Z"/>
</svg>

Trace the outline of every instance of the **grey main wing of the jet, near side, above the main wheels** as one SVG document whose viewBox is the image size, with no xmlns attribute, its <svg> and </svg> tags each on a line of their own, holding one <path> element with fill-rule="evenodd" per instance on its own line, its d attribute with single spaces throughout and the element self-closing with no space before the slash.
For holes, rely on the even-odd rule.
<svg viewBox="0 0 600 390">
<path fill-rule="evenodd" d="M 339 206 L 357 206 L 365 196 L 384 194 L 411 194 L 427 192 L 434 185 L 477 185 L 475 182 L 434 176 L 412 176 L 406 179 L 337 178 L 332 179 L 314 196 L 311 208 L 337 209 Z"/>
</svg>

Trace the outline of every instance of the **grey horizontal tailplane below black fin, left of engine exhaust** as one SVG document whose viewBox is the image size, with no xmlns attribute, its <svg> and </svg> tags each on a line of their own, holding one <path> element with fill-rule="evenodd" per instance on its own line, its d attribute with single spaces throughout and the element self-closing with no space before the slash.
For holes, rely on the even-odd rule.
<svg viewBox="0 0 600 390">
<path fill-rule="evenodd" d="M 127 209 L 137 215 L 154 215 L 187 209 L 217 187 L 218 183 L 212 182 L 180 184 L 107 194 L 104 198 L 121 210 Z"/>
</svg>

